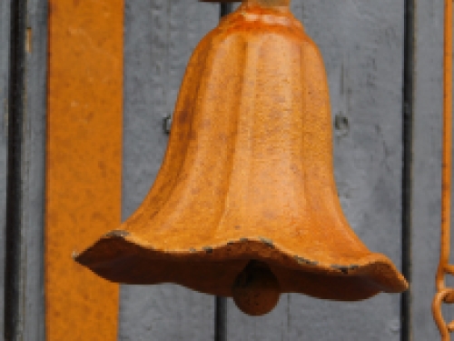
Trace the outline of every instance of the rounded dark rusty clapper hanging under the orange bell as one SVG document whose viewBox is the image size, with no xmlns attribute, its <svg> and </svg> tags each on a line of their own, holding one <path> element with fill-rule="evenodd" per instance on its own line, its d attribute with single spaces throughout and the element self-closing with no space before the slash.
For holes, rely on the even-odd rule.
<svg viewBox="0 0 454 341">
<path fill-rule="evenodd" d="M 270 267 L 252 260 L 236 277 L 232 286 L 235 305 L 250 316 L 271 312 L 279 302 L 281 289 Z"/>
</svg>

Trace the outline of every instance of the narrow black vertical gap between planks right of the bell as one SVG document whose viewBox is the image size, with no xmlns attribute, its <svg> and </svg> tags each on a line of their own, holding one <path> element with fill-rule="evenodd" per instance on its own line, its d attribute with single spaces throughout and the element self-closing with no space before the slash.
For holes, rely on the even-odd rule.
<svg viewBox="0 0 454 341">
<path fill-rule="evenodd" d="M 402 273 L 410 289 L 400 301 L 400 339 L 410 341 L 411 336 L 411 177 L 413 148 L 413 93 L 414 93 L 414 41 L 415 0 L 405 0 L 405 33 L 403 65 L 403 169 L 402 169 Z"/>
</svg>

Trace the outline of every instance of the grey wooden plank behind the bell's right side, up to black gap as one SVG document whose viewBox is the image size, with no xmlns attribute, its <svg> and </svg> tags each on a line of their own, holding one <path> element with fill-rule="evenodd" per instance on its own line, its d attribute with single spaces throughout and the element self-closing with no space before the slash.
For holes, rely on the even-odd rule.
<svg viewBox="0 0 454 341">
<path fill-rule="evenodd" d="M 336 179 L 351 226 L 400 266 L 402 0 L 293 0 L 321 47 L 335 131 Z M 243 316 L 229 301 L 228 340 L 399 340 L 400 296 L 360 303 L 282 296 L 268 316 Z"/>
</svg>

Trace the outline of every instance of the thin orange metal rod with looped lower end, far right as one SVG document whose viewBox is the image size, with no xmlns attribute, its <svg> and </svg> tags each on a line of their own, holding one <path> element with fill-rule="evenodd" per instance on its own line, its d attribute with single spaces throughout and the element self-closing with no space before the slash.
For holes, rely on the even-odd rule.
<svg viewBox="0 0 454 341">
<path fill-rule="evenodd" d="M 432 304 L 432 313 L 439 327 L 443 341 L 449 341 L 449 333 L 454 331 L 454 321 L 447 323 L 442 316 L 441 305 L 454 303 L 454 288 L 446 284 L 446 276 L 454 275 L 454 266 L 449 264 L 451 228 L 451 180 L 452 180 L 452 0 L 445 0 L 444 33 L 444 100 L 443 100 L 443 159 L 441 176 L 441 247 L 439 269 L 436 276 L 437 294 Z"/>
</svg>

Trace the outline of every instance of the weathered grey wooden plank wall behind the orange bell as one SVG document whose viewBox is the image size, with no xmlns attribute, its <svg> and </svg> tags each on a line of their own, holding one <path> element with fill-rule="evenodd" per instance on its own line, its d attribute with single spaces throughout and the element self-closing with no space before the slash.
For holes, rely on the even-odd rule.
<svg viewBox="0 0 454 341">
<path fill-rule="evenodd" d="M 4 241 L 10 4 L 0 1 L 0 240 Z M 23 311 L 25 340 L 44 340 L 43 211 L 46 1 L 29 0 L 23 159 Z M 153 184 L 185 65 L 219 18 L 219 5 L 195 0 L 125 1 L 123 218 Z M 430 315 L 439 256 L 442 109 L 442 0 L 293 0 L 294 15 L 320 45 L 330 81 L 335 167 L 341 203 L 370 249 L 402 264 L 411 246 L 410 314 L 400 296 L 349 304 L 289 295 L 268 316 L 242 315 L 229 300 L 224 339 L 436 340 Z M 413 12 L 411 12 L 413 11 Z M 407 15 L 406 15 L 407 13 Z M 414 25 L 409 24 L 409 20 Z M 407 20 L 407 22 L 406 22 Z M 410 29 L 409 29 L 410 27 Z M 405 44 L 407 42 L 407 44 Z M 407 46 L 407 48 L 405 48 Z M 413 48 L 410 48 L 410 47 Z M 404 65 L 414 63 L 404 77 Z M 404 92 L 410 140 L 411 235 L 402 237 Z M 411 116 L 410 116 L 411 117 Z M 410 136 L 411 137 L 411 136 Z M 0 274 L 4 268 L 0 246 Z M 0 275 L 0 278 L 3 278 Z M 0 291 L 4 283 L 0 281 Z M 0 331 L 3 334 L 3 295 Z M 123 286 L 119 339 L 214 340 L 215 299 L 179 286 Z M 453 309 L 446 309 L 454 317 Z M 410 335 L 405 332 L 410 321 Z M 74 326 L 76 327 L 76 326 Z"/>
</svg>

